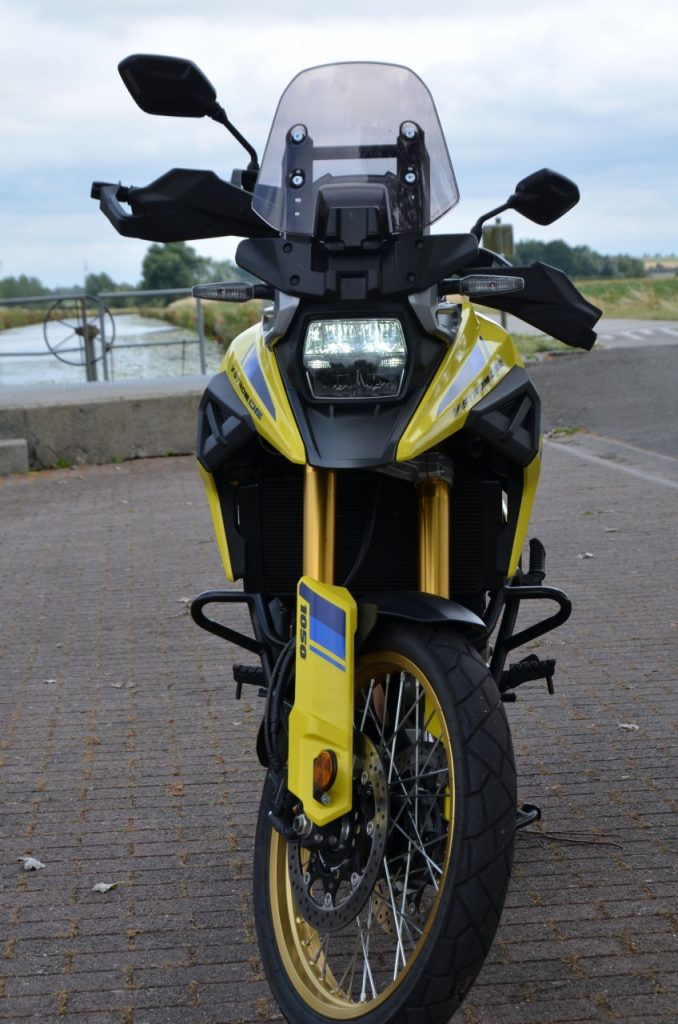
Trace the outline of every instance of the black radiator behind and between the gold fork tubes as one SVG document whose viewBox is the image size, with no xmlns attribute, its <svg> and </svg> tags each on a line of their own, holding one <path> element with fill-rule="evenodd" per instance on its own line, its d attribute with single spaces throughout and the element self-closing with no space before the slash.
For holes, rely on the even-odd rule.
<svg viewBox="0 0 678 1024">
<path fill-rule="evenodd" d="M 293 594 L 302 571 L 303 479 L 267 478 L 239 488 L 240 530 L 246 542 L 245 588 Z M 451 581 L 455 595 L 492 587 L 497 574 L 501 488 L 460 477 L 452 493 Z M 412 483 L 373 471 L 337 474 L 335 583 L 342 585 L 376 518 L 367 553 L 351 579 L 355 594 L 417 590 L 417 495 Z"/>
</svg>

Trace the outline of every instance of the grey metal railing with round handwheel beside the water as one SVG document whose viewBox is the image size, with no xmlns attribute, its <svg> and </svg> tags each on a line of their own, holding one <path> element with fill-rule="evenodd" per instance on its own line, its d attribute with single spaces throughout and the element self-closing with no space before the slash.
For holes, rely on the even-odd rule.
<svg viewBox="0 0 678 1024">
<path fill-rule="evenodd" d="M 192 295 L 189 288 L 168 288 L 157 290 L 134 289 L 127 292 L 99 292 L 90 296 L 84 293 L 63 293 L 59 295 L 32 295 L 18 298 L 0 298 L 0 306 L 31 306 L 50 303 L 43 318 L 44 351 L 3 352 L 0 357 L 56 357 L 71 366 L 81 366 L 85 371 L 87 381 L 101 378 L 112 380 L 114 376 L 113 355 L 115 351 L 130 348 L 155 348 L 175 345 L 198 345 L 201 374 L 207 373 L 205 354 L 205 319 L 201 299 L 196 299 L 196 338 L 179 338 L 171 341 L 135 341 L 116 343 L 115 321 L 107 306 L 111 299 L 146 299 L 146 298 L 178 298 Z M 61 312 L 59 317 L 57 314 Z M 121 313 L 121 310 L 116 310 Z M 54 315 L 51 315 L 51 314 Z M 60 324 L 69 331 L 62 339 L 56 340 L 55 333 L 49 335 L 48 325 Z M 1 333 L 0 333 L 1 337 Z"/>
</svg>

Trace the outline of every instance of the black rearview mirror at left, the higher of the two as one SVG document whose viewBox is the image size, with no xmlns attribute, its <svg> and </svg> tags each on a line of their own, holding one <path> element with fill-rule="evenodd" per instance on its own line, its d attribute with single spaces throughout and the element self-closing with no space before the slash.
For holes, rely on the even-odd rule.
<svg viewBox="0 0 678 1024">
<path fill-rule="evenodd" d="M 146 114 L 203 118 L 214 113 L 216 90 L 193 60 L 133 53 L 120 61 L 118 71 L 132 98 Z"/>
</svg>

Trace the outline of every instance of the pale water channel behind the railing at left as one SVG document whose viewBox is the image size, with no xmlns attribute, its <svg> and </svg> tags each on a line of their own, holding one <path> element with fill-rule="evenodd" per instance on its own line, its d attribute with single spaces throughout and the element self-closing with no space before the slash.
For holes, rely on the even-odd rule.
<svg viewBox="0 0 678 1024">
<path fill-rule="evenodd" d="M 69 344 L 73 345 L 73 342 Z M 42 324 L 0 331 L 0 388 L 85 381 L 85 367 L 74 365 L 80 364 L 78 352 L 61 351 L 62 358 L 71 361 L 62 361 L 50 352 Z M 207 373 L 216 373 L 223 358 L 221 345 L 206 338 L 205 358 Z M 100 359 L 96 364 L 96 372 L 97 379 L 103 380 Z M 109 353 L 109 379 L 142 380 L 200 372 L 200 350 L 195 331 L 136 313 L 116 315 L 116 337 Z"/>
</svg>

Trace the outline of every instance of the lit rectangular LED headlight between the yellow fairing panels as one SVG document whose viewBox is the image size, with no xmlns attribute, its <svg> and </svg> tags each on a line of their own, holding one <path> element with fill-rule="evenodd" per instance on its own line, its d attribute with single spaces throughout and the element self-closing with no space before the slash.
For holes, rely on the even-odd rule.
<svg viewBox="0 0 678 1024">
<path fill-rule="evenodd" d="M 303 365 L 314 398 L 396 398 L 408 346 L 398 319 L 312 321 Z"/>
</svg>

